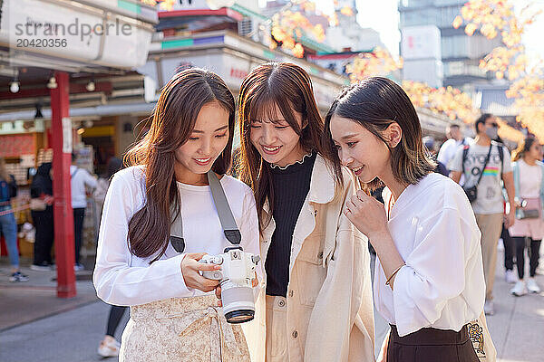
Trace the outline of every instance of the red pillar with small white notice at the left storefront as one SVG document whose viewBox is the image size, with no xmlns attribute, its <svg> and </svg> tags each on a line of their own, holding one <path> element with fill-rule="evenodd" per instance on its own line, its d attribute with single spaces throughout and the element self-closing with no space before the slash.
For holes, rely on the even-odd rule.
<svg viewBox="0 0 544 362">
<path fill-rule="evenodd" d="M 75 297 L 75 251 L 70 187 L 72 164 L 72 122 L 68 73 L 55 71 L 57 88 L 51 90 L 51 130 L 53 134 L 53 217 L 54 252 L 57 265 L 57 297 Z"/>
</svg>

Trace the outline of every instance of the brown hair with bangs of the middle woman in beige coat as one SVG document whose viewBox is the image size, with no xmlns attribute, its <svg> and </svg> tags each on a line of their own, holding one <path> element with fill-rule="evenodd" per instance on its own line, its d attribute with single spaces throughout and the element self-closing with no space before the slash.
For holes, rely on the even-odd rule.
<svg viewBox="0 0 544 362">
<path fill-rule="evenodd" d="M 288 62 L 268 62 L 251 71 L 240 86 L 238 106 L 241 144 L 238 175 L 253 189 L 262 230 L 270 222 L 274 211 L 274 187 L 270 167 L 251 143 L 251 121 L 274 119 L 277 106 L 289 126 L 300 137 L 301 146 L 306 151 L 312 150 L 322 155 L 324 123 L 317 110 L 310 76 L 298 65 Z M 294 112 L 302 115 L 302 128 Z M 340 177 L 338 181 L 341 180 Z M 269 213 L 267 219 L 263 220 L 260 210 L 267 200 Z"/>
</svg>

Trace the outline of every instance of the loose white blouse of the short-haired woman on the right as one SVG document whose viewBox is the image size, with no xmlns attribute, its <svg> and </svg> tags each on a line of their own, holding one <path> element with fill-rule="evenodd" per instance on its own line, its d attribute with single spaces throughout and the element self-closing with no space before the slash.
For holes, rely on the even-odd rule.
<svg viewBox="0 0 544 362">
<path fill-rule="evenodd" d="M 391 195 L 385 188 L 386 209 Z M 423 177 L 396 200 L 387 227 L 406 265 L 392 291 L 376 262 L 374 302 L 399 336 L 426 327 L 459 331 L 480 316 L 481 233 L 461 186 L 435 173 Z"/>
</svg>

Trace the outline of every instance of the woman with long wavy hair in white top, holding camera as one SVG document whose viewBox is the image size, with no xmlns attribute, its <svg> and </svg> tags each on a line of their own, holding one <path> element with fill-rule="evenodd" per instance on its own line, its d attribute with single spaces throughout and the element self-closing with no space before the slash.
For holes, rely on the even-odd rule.
<svg viewBox="0 0 544 362">
<path fill-rule="evenodd" d="M 219 281 L 199 271 L 205 253 L 231 246 L 212 199 L 207 173 L 219 177 L 241 233 L 258 254 L 251 189 L 230 166 L 235 102 L 214 73 L 189 69 L 164 87 L 147 135 L 129 151 L 102 212 L 94 285 L 111 304 L 131 306 L 120 361 L 249 361 L 246 340 L 218 310 Z M 184 250 L 170 243 L 182 220 Z M 179 229 L 178 229 L 179 230 Z"/>
</svg>

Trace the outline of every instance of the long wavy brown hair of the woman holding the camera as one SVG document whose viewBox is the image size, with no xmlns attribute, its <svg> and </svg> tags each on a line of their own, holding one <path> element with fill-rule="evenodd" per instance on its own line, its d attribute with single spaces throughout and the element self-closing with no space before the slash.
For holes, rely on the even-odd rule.
<svg viewBox="0 0 544 362">
<path fill-rule="evenodd" d="M 234 97 L 227 85 L 211 71 L 191 68 L 180 71 L 166 84 L 153 111 L 151 129 L 125 156 L 128 166 L 142 165 L 145 173 L 145 205 L 129 222 L 129 248 L 138 257 L 160 253 L 168 247 L 170 207 L 180 210 L 176 186 L 175 152 L 188 139 L 195 127 L 200 109 L 211 101 L 228 110 L 228 143 L 212 169 L 219 175 L 230 167 L 235 125 Z"/>
</svg>

